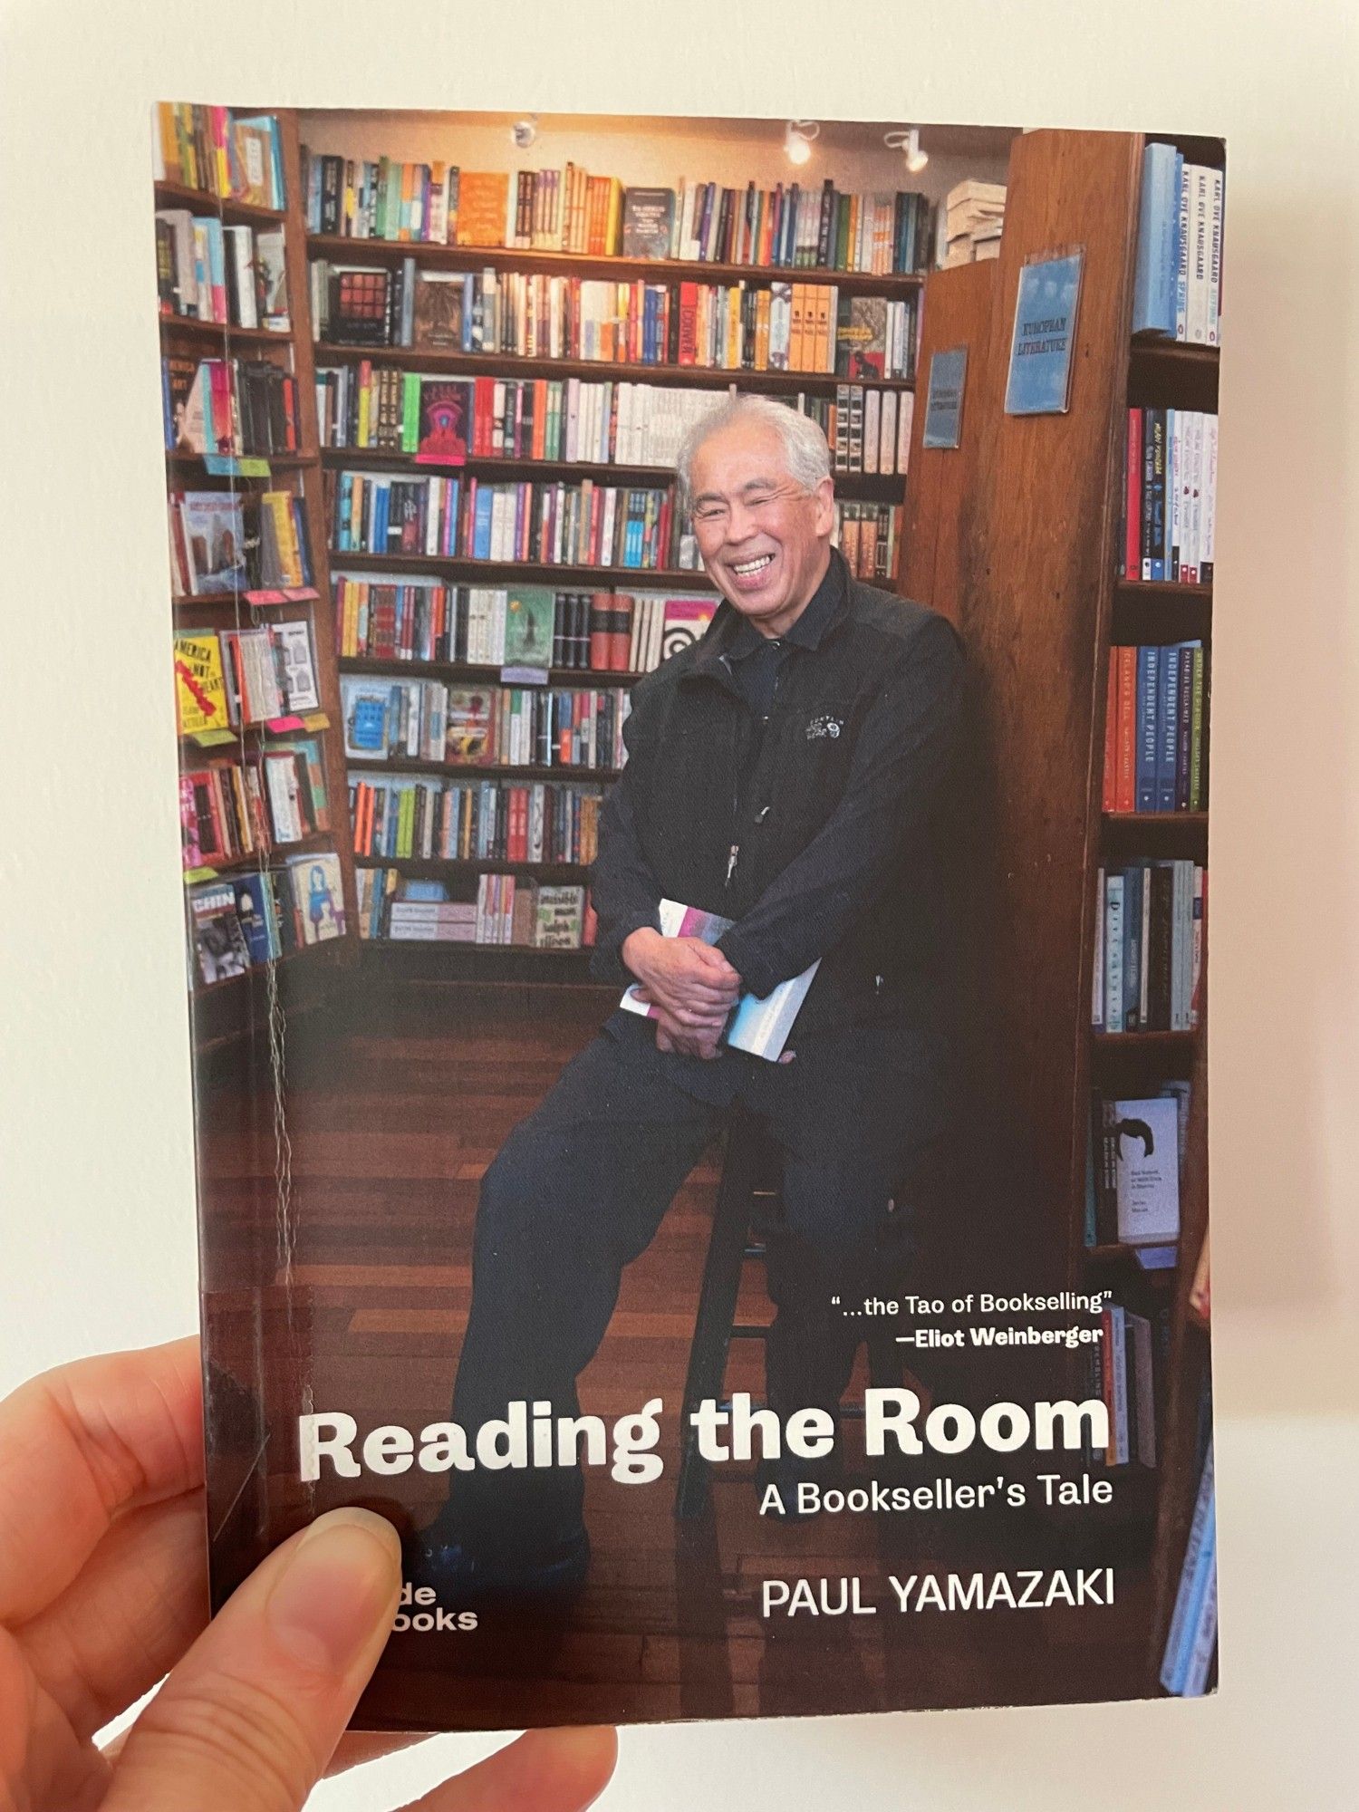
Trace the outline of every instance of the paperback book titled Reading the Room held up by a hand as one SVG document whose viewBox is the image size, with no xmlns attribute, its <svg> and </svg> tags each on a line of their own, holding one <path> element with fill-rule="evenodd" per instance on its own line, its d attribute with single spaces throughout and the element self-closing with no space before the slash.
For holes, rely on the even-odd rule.
<svg viewBox="0 0 1359 1812">
<path fill-rule="evenodd" d="M 388 1730 L 1210 1691 L 1221 141 L 154 123 L 214 1602 L 386 1515 Z"/>
</svg>

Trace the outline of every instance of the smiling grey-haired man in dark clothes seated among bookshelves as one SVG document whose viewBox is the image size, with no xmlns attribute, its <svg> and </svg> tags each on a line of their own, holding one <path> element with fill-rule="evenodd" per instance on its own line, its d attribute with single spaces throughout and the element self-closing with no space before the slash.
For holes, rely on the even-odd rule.
<svg viewBox="0 0 1359 1812">
<path fill-rule="evenodd" d="M 946 1125 L 933 828 L 959 640 L 852 578 L 832 547 L 826 440 L 806 417 L 725 402 L 689 435 L 680 480 L 725 603 L 632 692 L 593 872 L 594 973 L 640 982 L 654 1017 L 614 1013 L 486 1172 L 453 1399 L 464 1428 L 515 1399 L 578 1413 L 576 1377 L 623 1267 L 737 1102 L 783 1154 L 768 1401 L 834 1410 L 863 1323 L 832 1297 L 877 1279 L 913 1160 Z M 661 937 L 661 899 L 734 924 L 716 948 Z M 765 997 L 817 959 L 790 1058 L 721 1046 L 737 995 Z M 413 1571 L 469 1593 L 576 1584 L 587 1562 L 578 1471 L 471 1471 Z"/>
</svg>

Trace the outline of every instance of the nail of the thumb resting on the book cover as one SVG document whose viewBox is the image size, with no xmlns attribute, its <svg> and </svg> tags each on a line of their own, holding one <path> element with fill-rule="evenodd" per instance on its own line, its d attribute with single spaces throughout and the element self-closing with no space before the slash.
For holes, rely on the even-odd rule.
<svg viewBox="0 0 1359 1812">
<path fill-rule="evenodd" d="M 400 1538 L 386 1517 L 332 1509 L 294 1547 L 265 1616 L 304 1667 L 342 1674 L 371 1638 L 399 1573 Z"/>
</svg>

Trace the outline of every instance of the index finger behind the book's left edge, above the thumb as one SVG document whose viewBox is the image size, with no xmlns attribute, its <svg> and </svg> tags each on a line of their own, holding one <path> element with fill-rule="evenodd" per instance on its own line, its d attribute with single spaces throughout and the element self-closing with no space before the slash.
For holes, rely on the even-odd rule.
<svg viewBox="0 0 1359 1812">
<path fill-rule="evenodd" d="M 0 1402 L 0 1620 L 65 1591 L 121 1511 L 201 1484 L 198 1339 L 22 1384 Z"/>
</svg>

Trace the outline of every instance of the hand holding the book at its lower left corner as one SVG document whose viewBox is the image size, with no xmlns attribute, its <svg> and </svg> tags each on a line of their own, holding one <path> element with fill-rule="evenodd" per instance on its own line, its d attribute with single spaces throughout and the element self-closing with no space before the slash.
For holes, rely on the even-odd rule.
<svg viewBox="0 0 1359 1812">
<path fill-rule="evenodd" d="M 205 1549 L 198 1341 L 82 1359 L 0 1402 L 0 1805 L 297 1812 L 323 1772 L 411 1741 L 342 1738 L 397 1609 L 390 1522 L 317 1518 L 210 1625 Z M 574 1812 L 612 1765 L 612 1730 L 531 1730 L 419 1807 Z"/>
</svg>

